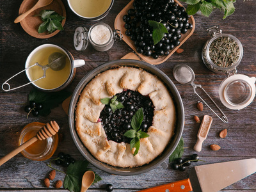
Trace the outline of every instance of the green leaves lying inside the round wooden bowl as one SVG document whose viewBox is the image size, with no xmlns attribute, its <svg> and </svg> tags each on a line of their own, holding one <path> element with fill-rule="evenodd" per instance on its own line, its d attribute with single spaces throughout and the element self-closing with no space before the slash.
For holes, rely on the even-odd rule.
<svg viewBox="0 0 256 192">
<path fill-rule="evenodd" d="M 44 21 L 42 24 L 40 24 L 38 28 L 38 33 L 44 33 L 45 31 L 52 33 L 57 29 L 60 31 L 63 30 L 61 21 L 65 19 L 65 17 L 62 17 L 58 13 L 52 10 L 42 10 L 39 13 L 39 15 L 35 15 L 35 16 L 40 16 L 41 19 Z"/>
</svg>

